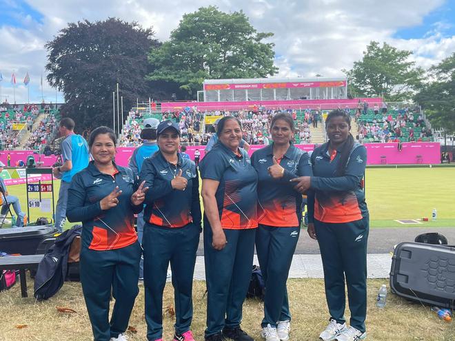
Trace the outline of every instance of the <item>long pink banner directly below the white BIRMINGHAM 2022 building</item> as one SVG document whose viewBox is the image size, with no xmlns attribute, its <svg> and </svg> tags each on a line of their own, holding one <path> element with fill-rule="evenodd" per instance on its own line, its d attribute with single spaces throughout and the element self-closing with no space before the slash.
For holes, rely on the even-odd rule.
<svg viewBox="0 0 455 341">
<path fill-rule="evenodd" d="M 338 105 L 344 108 L 346 105 L 350 108 L 357 107 L 358 101 L 366 101 L 370 107 L 374 104 L 381 106 L 383 99 L 376 97 L 372 99 L 304 99 L 295 101 L 237 101 L 237 102 L 168 102 L 161 103 L 161 112 L 170 112 L 174 110 L 183 110 L 185 107 L 196 107 L 197 110 L 251 110 L 259 105 L 267 109 L 278 109 L 278 108 L 303 108 L 310 107 L 316 109 L 335 109 Z"/>
</svg>

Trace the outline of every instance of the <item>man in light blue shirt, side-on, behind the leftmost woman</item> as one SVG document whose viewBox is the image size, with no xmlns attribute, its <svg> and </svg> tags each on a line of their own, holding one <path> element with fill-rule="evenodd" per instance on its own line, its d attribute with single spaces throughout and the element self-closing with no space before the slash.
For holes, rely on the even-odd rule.
<svg viewBox="0 0 455 341">
<path fill-rule="evenodd" d="M 66 205 L 68 203 L 68 189 L 70 189 L 71 179 L 77 172 L 88 165 L 88 146 L 85 139 L 78 134 L 74 134 L 74 121 L 65 117 L 59 123 L 59 133 L 65 136 L 61 143 L 61 156 L 63 165 L 54 167 L 52 173 L 56 178 L 61 178 L 59 200 L 55 207 L 55 228 L 61 232 L 66 221 Z"/>
</svg>

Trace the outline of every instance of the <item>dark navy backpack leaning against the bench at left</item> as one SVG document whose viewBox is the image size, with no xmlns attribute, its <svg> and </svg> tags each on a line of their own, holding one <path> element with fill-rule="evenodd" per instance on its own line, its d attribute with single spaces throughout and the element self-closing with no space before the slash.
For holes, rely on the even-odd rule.
<svg viewBox="0 0 455 341">
<path fill-rule="evenodd" d="M 81 225 L 74 225 L 58 236 L 54 245 L 46 251 L 34 278 L 33 296 L 37 300 L 51 298 L 63 286 L 68 272 L 70 247 L 74 238 L 81 236 L 81 230 Z"/>
</svg>

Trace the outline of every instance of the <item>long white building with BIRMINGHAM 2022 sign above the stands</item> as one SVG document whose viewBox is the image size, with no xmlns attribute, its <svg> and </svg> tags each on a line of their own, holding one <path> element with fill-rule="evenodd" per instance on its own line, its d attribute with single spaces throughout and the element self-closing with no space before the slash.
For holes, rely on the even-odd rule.
<svg viewBox="0 0 455 341">
<path fill-rule="evenodd" d="M 346 98 L 345 78 L 206 79 L 198 92 L 198 100 L 204 102 Z"/>
</svg>

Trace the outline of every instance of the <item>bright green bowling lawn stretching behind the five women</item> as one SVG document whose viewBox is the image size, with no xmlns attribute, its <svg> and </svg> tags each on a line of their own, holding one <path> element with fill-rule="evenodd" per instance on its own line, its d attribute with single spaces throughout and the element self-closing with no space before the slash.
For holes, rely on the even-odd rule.
<svg viewBox="0 0 455 341">
<path fill-rule="evenodd" d="M 372 227 L 455 227 L 455 167 L 368 168 L 365 177 Z M 59 180 L 55 182 L 55 200 Z M 26 211 L 26 185 L 8 186 Z M 37 198 L 37 194 L 33 198 Z M 43 197 L 50 198 L 48 194 Z M 437 220 L 432 221 L 432 210 Z M 50 214 L 31 210 L 31 220 Z M 429 218 L 429 222 L 403 225 L 394 220 Z M 69 226 L 69 225 L 68 225 Z"/>
</svg>

